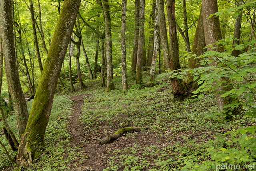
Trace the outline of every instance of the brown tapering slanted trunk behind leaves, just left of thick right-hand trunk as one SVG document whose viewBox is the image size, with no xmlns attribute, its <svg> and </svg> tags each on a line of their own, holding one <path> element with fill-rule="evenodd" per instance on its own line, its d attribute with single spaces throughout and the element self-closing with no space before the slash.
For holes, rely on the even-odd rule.
<svg viewBox="0 0 256 171">
<path fill-rule="evenodd" d="M 205 38 L 204 38 L 204 23 L 202 18 L 202 8 L 200 10 L 198 23 L 196 26 L 196 33 L 194 42 L 192 45 L 192 54 L 196 54 L 196 56 L 201 56 L 206 52 L 206 44 L 205 44 Z M 196 58 L 194 56 L 190 57 L 188 59 L 188 68 L 199 68 L 201 65 L 199 64 L 200 58 Z M 188 73 L 188 80 L 187 84 L 191 85 L 191 91 L 194 91 L 198 88 L 198 84 L 196 81 L 194 81 L 194 77 L 192 74 Z"/>
</svg>

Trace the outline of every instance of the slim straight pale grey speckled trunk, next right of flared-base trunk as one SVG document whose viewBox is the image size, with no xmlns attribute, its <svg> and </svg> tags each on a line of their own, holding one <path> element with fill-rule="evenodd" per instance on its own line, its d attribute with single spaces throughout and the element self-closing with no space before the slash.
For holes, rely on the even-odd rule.
<svg viewBox="0 0 256 171">
<path fill-rule="evenodd" d="M 126 42 L 125 42 L 125 30 L 126 30 L 126 5 L 127 0 L 122 0 L 122 26 L 121 26 L 121 55 L 122 55 L 122 87 L 123 91 L 128 90 L 128 82 L 126 76 Z"/>
</svg>

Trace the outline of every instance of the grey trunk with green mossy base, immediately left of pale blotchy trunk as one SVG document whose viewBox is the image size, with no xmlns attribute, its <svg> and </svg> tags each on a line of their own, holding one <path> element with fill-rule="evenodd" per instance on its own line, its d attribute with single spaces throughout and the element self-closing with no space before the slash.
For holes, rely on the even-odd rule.
<svg viewBox="0 0 256 171">
<path fill-rule="evenodd" d="M 139 18 L 139 40 L 136 65 L 136 84 L 142 85 L 142 60 L 144 47 L 144 22 L 145 22 L 145 0 L 140 0 L 140 18 Z"/>
</svg>

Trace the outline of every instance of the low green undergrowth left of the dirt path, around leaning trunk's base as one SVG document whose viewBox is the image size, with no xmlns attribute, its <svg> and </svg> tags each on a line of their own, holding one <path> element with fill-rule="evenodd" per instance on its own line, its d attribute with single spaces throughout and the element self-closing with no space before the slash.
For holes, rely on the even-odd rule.
<svg viewBox="0 0 256 171">
<path fill-rule="evenodd" d="M 30 111 L 32 101 L 28 102 L 28 109 Z M 49 153 L 44 154 L 38 162 L 32 164 L 30 171 L 56 171 L 56 170 L 74 170 L 72 161 L 83 159 L 85 156 L 81 156 L 80 153 L 76 152 L 77 147 L 70 145 L 70 135 L 68 133 L 68 121 L 66 120 L 71 113 L 71 107 L 73 102 L 68 96 L 55 95 L 52 111 L 49 119 L 49 123 L 46 128 L 45 134 L 45 150 Z M 16 123 L 14 115 L 8 116 L 9 125 L 14 128 Z M 15 130 L 15 129 L 14 129 Z M 17 133 L 16 133 L 17 134 Z M 5 143 L 6 147 L 8 144 L 3 136 L 0 137 Z M 9 150 L 11 152 L 11 150 Z M 16 153 L 10 153 L 15 158 Z M 2 147 L 0 148 L 0 170 L 10 167 L 11 163 L 4 153 Z"/>
</svg>

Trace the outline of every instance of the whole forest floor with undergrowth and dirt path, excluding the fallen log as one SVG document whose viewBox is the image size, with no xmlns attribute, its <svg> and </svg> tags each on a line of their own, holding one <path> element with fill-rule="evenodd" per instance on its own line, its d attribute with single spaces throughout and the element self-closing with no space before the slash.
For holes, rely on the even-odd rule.
<svg viewBox="0 0 256 171">
<path fill-rule="evenodd" d="M 250 142 L 245 143 L 247 139 L 239 139 L 241 133 L 234 131 L 256 125 L 254 116 L 244 114 L 232 122 L 224 121 L 211 92 L 202 99 L 175 101 L 164 74 L 157 77 L 154 87 L 129 84 L 127 92 L 121 89 L 121 78 L 115 78 L 114 83 L 116 89 L 109 93 L 100 87 L 100 80 L 92 80 L 85 82 L 86 90 L 55 95 L 45 135 L 45 150 L 49 153 L 28 171 L 204 171 L 216 170 L 216 163 L 226 159 L 232 159 L 230 163 L 254 162 L 254 153 L 248 154 L 253 150 L 241 150 L 255 147 L 251 135 L 247 135 Z M 32 101 L 27 104 L 30 110 Z M 8 115 L 7 121 L 17 133 L 15 116 Z M 99 144 L 123 127 L 149 129 Z M 248 132 L 253 129 L 250 127 Z M 244 132 L 241 136 L 246 136 Z M 8 146 L 3 136 L 0 140 Z M 240 150 L 240 155 L 229 153 L 229 148 Z M 15 159 L 16 152 L 9 152 Z M 14 170 L 2 148 L 1 169 Z"/>
</svg>

